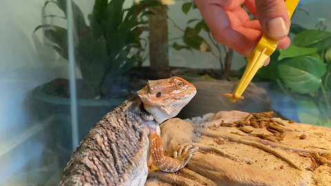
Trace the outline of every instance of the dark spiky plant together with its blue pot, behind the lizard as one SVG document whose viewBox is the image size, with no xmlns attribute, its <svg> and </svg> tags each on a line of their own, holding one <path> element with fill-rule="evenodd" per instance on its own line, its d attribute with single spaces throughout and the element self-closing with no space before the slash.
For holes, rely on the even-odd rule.
<svg viewBox="0 0 331 186">
<path fill-rule="evenodd" d="M 148 27 L 148 8 L 157 5 L 157 1 L 140 1 L 129 8 L 123 7 L 124 2 L 96 0 L 92 13 L 88 15 L 89 25 L 79 6 L 72 2 L 74 56 L 82 76 L 76 80 L 79 140 L 104 114 L 128 99 L 131 91 L 141 87 L 129 83 L 128 70 L 141 66 L 148 56 L 145 51 L 147 41 L 142 34 Z M 43 8 L 51 5 L 57 6 L 65 17 L 48 14 L 43 19 L 66 19 L 66 0 L 46 1 Z M 50 40 L 50 46 L 68 59 L 67 29 L 43 24 L 37 26 L 34 33 L 40 30 Z M 52 143 L 56 143 L 61 152 L 70 154 L 72 131 L 68 79 L 54 79 L 39 85 L 30 92 L 27 100 L 32 116 L 40 122 L 47 120 L 51 123 Z M 52 118 L 51 121 L 48 118 Z"/>
</svg>

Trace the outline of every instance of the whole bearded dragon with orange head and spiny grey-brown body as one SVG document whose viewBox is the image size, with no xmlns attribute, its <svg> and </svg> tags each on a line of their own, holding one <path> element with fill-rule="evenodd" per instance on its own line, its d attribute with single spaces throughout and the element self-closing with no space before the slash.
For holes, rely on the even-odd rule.
<svg viewBox="0 0 331 186">
<path fill-rule="evenodd" d="M 163 172 L 182 169 L 197 147 L 165 156 L 159 124 L 176 116 L 197 90 L 180 77 L 148 81 L 132 99 L 103 116 L 81 141 L 59 185 L 144 185 L 148 158 Z"/>
</svg>

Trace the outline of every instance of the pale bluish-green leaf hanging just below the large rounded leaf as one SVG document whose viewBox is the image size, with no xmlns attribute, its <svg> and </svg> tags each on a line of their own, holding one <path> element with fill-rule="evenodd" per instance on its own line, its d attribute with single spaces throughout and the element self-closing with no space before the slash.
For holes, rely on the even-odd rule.
<svg viewBox="0 0 331 186">
<path fill-rule="evenodd" d="M 308 97 L 298 96 L 294 99 L 297 107 L 299 121 L 301 123 L 309 123 L 317 125 L 320 119 L 319 107 Z"/>
</svg>

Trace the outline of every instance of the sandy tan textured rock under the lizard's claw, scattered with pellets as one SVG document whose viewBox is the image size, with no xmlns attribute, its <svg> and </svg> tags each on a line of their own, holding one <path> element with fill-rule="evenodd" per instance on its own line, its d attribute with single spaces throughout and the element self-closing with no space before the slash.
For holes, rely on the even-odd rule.
<svg viewBox="0 0 331 186">
<path fill-rule="evenodd" d="M 331 153 L 330 129 L 282 121 L 285 137 L 272 142 L 248 136 L 237 127 L 220 126 L 222 121 L 245 116 L 248 113 L 219 112 L 164 123 L 161 136 L 166 152 L 185 143 L 201 150 L 178 174 L 150 171 L 146 185 L 331 185 L 331 155 L 323 160 L 313 155 Z M 265 128 L 248 128 L 252 134 L 270 134 Z M 304 139 L 299 138 L 302 134 Z"/>
</svg>

